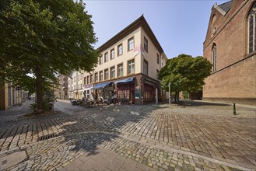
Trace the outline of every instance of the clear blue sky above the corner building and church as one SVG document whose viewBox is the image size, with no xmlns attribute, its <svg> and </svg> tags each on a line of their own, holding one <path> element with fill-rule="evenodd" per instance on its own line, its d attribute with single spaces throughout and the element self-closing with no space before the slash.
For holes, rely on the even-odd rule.
<svg viewBox="0 0 256 171">
<path fill-rule="evenodd" d="M 83 0 L 92 15 L 100 47 L 142 14 L 160 42 L 167 58 L 179 54 L 203 55 L 203 42 L 212 6 L 228 0 Z"/>
</svg>

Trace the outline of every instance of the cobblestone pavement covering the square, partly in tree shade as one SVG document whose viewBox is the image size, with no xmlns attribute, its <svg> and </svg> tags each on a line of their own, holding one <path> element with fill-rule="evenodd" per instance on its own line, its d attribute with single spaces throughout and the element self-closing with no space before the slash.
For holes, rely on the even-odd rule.
<svg viewBox="0 0 256 171">
<path fill-rule="evenodd" d="M 107 148 L 158 170 L 255 170 L 256 110 L 185 101 L 183 105 L 85 108 L 59 100 L 53 115 L 25 118 L 26 103 L 0 113 L 0 157 L 6 170 L 58 170 Z M 26 152 L 22 162 L 8 156 Z"/>
</svg>

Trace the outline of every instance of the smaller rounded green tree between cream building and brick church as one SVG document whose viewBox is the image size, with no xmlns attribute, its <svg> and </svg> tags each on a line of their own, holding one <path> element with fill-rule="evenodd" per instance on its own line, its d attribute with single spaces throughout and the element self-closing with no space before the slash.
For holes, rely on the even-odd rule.
<svg viewBox="0 0 256 171">
<path fill-rule="evenodd" d="M 211 74 L 212 64 L 206 58 L 180 54 L 167 61 L 159 73 L 164 90 L 175 92 L 175 101 L 181 91 L 197 92 L 205 84 L 204 79 Z"/>
</svg>

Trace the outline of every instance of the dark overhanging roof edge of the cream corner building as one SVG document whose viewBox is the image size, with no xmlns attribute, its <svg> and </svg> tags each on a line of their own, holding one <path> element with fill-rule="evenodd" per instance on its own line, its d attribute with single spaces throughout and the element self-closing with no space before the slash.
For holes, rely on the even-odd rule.
<svg viewBox="0 0 256 171">
<path fill-rule="evenodd" d="M 100 51 L 106 50 L 108 47 L 111 47 L 113 44 L 116 44 L 117 41 L 128 36 L 128 34 L 132 33 L 132 31 L 138 29 L 139 27 L 142 27 L 142 29 L 146 32 L 149 39 L 155 45 L 156 49 L 160 51 L 160 54 L 162 54 L 163 48 L 161 47 L 160 43 L 156 39 L 155 34 L 151 30 L 149 24 L 146 22 L 146 19 L 144 18 L 143 15 L 140 16 L 139 19 L 136 19 L 133 23 L 125 27 L 124 30 L 121 30 L 119 33 L 117 33 L 114 37 L 110 38 L 110 40 L 107 40 L 107 42 L 101 45 L 98 49 Z"/>
</svg>

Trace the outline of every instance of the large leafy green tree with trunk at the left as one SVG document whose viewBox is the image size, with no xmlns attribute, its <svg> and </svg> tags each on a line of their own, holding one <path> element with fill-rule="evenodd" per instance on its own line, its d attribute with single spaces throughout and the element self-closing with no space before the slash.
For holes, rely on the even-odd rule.
<svg viewBox="0 0 256 171">
<path fill-rule="evenodd" d="M 72 0 L 0 0 L 0 10 L 0 74 L 36 92 L 37 112 L 43 112 L 43 95 L 56 75 L 90 72 L 96 64 L 91 16 Z"/>
</svg>

